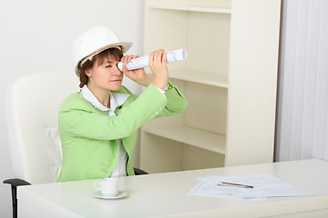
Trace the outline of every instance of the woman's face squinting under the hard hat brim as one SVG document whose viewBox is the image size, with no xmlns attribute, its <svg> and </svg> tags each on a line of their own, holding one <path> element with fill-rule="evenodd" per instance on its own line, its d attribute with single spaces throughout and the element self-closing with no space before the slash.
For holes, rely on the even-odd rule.
<svg viewBox="0 0 328 218">
<path fill-rule="evenodd" d="M 89 77 L 87 84 L 106 90 L 116 91 L 120 89 L 123 73 L 118 70 L 117 64 L 116 58 L 110 54 L 102 62 L 97 60 L 93 67 L 86 71 Z"/>
</svg>

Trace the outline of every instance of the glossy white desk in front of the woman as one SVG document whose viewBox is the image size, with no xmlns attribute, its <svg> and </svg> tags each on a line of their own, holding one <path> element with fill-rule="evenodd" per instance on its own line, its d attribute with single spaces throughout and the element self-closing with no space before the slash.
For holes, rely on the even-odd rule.
<svg viewBox="0 0 328 218">
<path fill-rule="evenodd" d="M 187 195 L 207 174 L 272 174 L 313 193 L 305 197 L 239 200 Z M 18 217 L 328 217 L 328 162 L 266 163 L 119 179 L 128 196 L 92 196 L 96 180 L 47 183 L 18 188 Z"/>
</svg>

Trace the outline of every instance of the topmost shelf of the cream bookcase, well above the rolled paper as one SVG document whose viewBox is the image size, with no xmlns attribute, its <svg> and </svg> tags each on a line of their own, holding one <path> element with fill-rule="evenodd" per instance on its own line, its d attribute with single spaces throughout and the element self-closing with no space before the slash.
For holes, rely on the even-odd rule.
<svg viewBox="0 0 328 218">
<path fill-rule="evenodd" d="M 177 10 L 188 12 L 206 12 L 206 13 L 219 13 L 219 14 L 231 14 L 230 8 L 220 7 L 200 7 L 200 6 L 186 6 L 186 5 L 163 5 L 163 4 L 151 4 L 149 8 L 165 9 L 165 10 Z"/>
</svg>

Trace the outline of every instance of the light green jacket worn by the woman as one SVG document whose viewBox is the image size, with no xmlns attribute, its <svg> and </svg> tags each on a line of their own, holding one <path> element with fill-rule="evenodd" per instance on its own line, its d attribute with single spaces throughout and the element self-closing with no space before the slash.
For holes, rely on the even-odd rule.
<svg viewBox="0 0 328 218">
<path fill-rule="evenodd" d="M 179 114 L 188 105 L 175 86 L 168 87 L 165 100 L 153 84 L 140 95 L 122 86 L 116 92 L 130 95 L 117 107 L 116 116 L 99 111 L 81 92 L 69 95 L 59 111 L 64 160 L 58 182 L 108 177 L 118 163 L 118 139 L 128 153 L 127 173 L 134 175 L 132 159 L 138 128 L 152 118 Z"/>
</svg>

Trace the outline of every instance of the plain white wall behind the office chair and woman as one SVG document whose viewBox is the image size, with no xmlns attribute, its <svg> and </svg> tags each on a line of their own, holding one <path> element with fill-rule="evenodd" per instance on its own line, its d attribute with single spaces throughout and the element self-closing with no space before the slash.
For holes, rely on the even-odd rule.
<svg viewBox="0 0 328 218">
<path fill-rule="evenodd" d="M 143 0 L 1 0 L 0 7 L 0 216 L 12 212 L 14 176 L 5 128 L 5 88 L 24 74 L 73 71 L 72 45 L 92 25 L 106 25 L 121 40 L 134 43 L 129 54 L 142 54 Z M 125 82 L 134 92 L 140 89 Z M 58 87 L 59 88 L 59 87 Z M 28 106 L 28 105 L 26 105 Z"/>
</svg>

